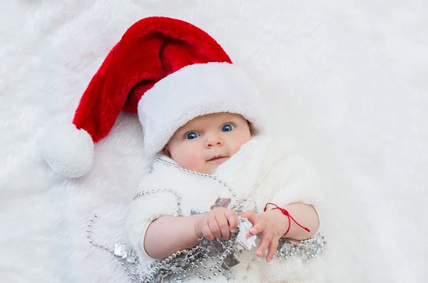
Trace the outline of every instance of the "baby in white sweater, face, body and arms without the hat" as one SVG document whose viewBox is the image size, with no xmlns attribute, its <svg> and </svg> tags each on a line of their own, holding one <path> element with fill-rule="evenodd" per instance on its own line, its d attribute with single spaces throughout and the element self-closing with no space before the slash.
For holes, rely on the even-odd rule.
<svg viewBox="0 0 428 283">
<path fill-rule="evenodd" d="M 155 192 L 139 193 L 128 217 L 128 240 L 143 266 L 194 247 L 201 237 L 230 239 L 241 216 L 252 224 L 247 238 L 260 235 L 260 242 L 255 252 L 239 255 L 237 282 L 322 282 L 315 264 L 272 261 L 282 237 L 305 240 L 317 232 L 316 175 L 287 143 L 252 132 L 243 115 L 221 112 L 199 115 L 173 133 L 141 180 L 139 190 Z M 253 201 L 237 214 L 231 205 L 213 207 L 218 198 Z M 255 261 L 263 254 L 265 263 Z"/>
</svg>

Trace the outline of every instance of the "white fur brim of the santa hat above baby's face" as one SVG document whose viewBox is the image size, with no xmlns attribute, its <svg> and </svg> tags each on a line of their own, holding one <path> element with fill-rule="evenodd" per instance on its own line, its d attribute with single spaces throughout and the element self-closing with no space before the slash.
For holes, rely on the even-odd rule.
<svg viewBox="0 0 428 283">
<path fill-rule="evenodd" d="M 161 151 L 175 131 L 193 118 L 220 112 L 243 115 L 256 135 L 267 131 L 263 101 L 238 66 L 193 64 L 170 74 L 138 103 L 146 154 Z"/>
</svg>

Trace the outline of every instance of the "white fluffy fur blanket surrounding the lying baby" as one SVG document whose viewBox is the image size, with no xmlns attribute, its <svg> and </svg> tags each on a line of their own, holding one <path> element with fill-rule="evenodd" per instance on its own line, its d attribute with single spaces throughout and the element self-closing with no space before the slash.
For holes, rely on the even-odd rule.
<svg viewBox="0 0 428 283">
<path fill-rule="evenodd" d="M 7 4 L 6 4 L 7 3 Z M 135 21 L 200 26 L 243 65 L 325 179 L 330 282 L 427 282 L 427 1 L 21 0 L 0 4 L 0 281 L 127 282 L 93 237 L 121 240 L 145 160 L 121 115 L 78 180 L 44 163 L 49 123 L 71 120 Z"/>
</svg>

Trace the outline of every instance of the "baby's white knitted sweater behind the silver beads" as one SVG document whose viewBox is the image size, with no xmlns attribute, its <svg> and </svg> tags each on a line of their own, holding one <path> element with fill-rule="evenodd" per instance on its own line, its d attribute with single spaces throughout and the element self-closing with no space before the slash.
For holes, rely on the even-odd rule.
<svg viewBox="0 0 428 283">
<path fill-rule="evenodd" d="M 165 156 L 161 158 L 173 162 Z M 262 211 L 266 202 L 287 205 L 305 202 L 314 205 L 322 215 L 322 195 L 315 170 L 302 157 L 292 153 L 289 143 L 268 137 L 256 137 L 243 145 L 228 161 L 220 165 L 215 174 L 228 186 L 207 177 L 184 173 L 177 168 L 155 163 L 151 174 L 141 181 L 139 190 L 175 190 L 181 196 L 183 215 L 192 208 L 210 210 L 218 197 L 231 197 L 232 187 L 237 197 L 251 197 Z M 151 218 L 174 214 L 177 198 L 170 192 L 144 195 L 133 201 L 128 217 L 128 241 L 138 250 L 143 263 L 153 260 L 142 249 L 143 237 Z M 321 226 L 320 226 L 321 228 Z M 241 263 L 233 282 L 324 282 L 322 256 L 302 262 L 300 257 L 276 259 L 267 263 L 255 256 L 255 249 L 240 254 Z M 185 282 L 200 282 L 188 279 Z M 216 276 L 210 282 L 227 282 Z"/>
</svg>

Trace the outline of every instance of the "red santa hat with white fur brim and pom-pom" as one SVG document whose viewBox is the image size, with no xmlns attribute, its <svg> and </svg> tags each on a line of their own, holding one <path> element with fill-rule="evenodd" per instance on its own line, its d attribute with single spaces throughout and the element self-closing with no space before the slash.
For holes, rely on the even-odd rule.
<svg viewBox="0 0 428 283">
<path fill-rule="evenodd" d="M 44 157 L 56 173 L 80 177 L 93 143 L 108 135 L 121 110 L 138 113 L 146 155 L 163 149 L 178 128 L 200 115 L 238 113 L 259 134 L 266 115 L 252 81 L 205 31 L 178 19 L 133 24 L 93 76 L 73 124 L 51 128 Z"/>
</svg>

